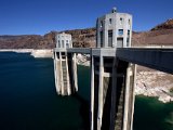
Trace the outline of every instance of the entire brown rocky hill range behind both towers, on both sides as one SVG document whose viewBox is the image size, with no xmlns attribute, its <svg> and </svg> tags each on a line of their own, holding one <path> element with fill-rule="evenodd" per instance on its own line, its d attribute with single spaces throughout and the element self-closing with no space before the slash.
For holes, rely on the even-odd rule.
<svg viewBox="0 0 173 130">
<path fill-rule="evenodd" d="M 0 49 L 53 49 L 55 48 L 55 35 L 58 31 L 51 31 L 44 36 L 0 36 Z M 62 31 L 59 31 L 62 32 Z M 95 28 L 65 30 L 71 34 L 74 47 L 95 47 Z M 154 27 L 149 31 L 133 32 L 132 46 L 172 46 L 173 44 L 173 20 Z"/>
</svg>

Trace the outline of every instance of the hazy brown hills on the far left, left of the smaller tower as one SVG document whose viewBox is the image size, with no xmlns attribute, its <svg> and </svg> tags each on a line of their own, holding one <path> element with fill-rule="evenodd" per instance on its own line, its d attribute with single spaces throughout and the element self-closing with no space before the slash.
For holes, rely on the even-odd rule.
<svg viewBox="0 0 173 130">
<path fill-rule="evenodd" d="M 0 36 L 0 49 L 51 49 L 53 39 L 39 35 Z"/>
</svg>

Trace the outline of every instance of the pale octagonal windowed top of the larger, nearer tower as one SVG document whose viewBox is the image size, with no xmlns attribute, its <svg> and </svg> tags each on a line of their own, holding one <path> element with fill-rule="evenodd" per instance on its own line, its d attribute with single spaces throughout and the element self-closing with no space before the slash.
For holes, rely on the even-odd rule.
<svg viewBox="0 0 173 130">
<path fill-rule="evenodd" d="M 117 9 L 96 22 L 96 47 L 97 48 L 127 48 L 131 47 L 132 15 L 118 13 Z"/>
</svg>

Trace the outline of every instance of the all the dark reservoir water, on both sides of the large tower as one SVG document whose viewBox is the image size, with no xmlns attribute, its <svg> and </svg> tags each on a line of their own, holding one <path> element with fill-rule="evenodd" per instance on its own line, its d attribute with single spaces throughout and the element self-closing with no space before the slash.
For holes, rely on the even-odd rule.
<svg viewBox="0 0 173 130">
<path fill-rule="evenodd" d="M 79 92 L 59 96 L 53 60 L 0 53 L 0 130 L 89 129 L 90 72 L 78 66 Z M 173 103 L 136 96 L 134 130 L 173 130 Z"/>
</svg>

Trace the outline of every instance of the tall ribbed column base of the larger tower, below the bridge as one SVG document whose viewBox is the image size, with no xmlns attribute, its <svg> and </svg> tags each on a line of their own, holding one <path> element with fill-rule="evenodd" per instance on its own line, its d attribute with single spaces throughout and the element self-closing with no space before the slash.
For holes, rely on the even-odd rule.
<svg viewBox="0 0 173 130">
<path fill-rule="evenodd" d="M 92 51 L 91 130 L 132 130 L 134 78 L 134 65 Z"/>
</svg>

